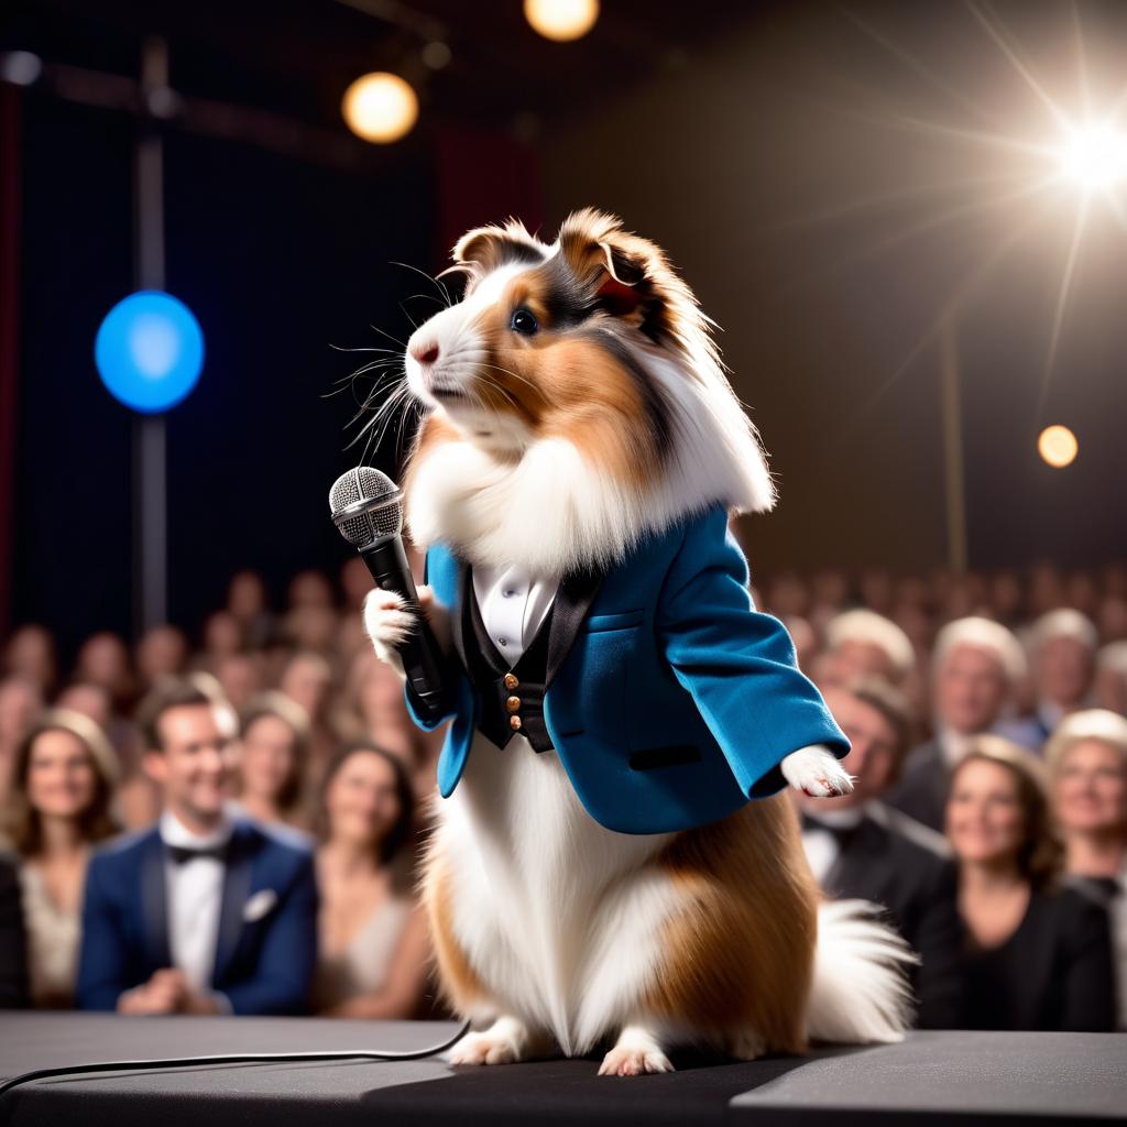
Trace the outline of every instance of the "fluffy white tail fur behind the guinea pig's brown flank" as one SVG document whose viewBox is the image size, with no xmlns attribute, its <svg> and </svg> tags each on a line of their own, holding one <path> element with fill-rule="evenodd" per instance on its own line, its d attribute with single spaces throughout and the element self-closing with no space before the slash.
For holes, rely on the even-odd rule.
<svg viewBox="0 0 1127 1127">
<path fill-rule="evenodd" d="M 898 1041 L 912 1020 L 907 969 L 919 957 L 866 900 L 818 908 L 814 985 L 806 1017 L 811 1040 L 845 1045 Z"/>
</svg>

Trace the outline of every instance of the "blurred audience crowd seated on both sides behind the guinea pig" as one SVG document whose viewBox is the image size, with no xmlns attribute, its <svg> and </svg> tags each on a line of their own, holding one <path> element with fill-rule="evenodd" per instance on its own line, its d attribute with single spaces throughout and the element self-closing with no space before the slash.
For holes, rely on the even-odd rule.
<svg viewBox="0 0 1127 1127">
<path fill-rule="evenodd" d="M 855 793 L 801 804 L 811 867 L 828 895 L 882 904 L 922 953 L 919 1023 L 1103 1027 L 1107 1015 L 1095 1012 L 1089 985 L 1109 914 L 1122 1022 L 1127 568 L 872 570 L 855 583 L 823 568 L 809 579 L 793 571 L 756 578 L 766 596 L 757 593 L 756 605 L 788 622 L 802 668 L 853 742 L 848 766 Z M 350 558 L 338 580 L 335 593 L 323 575 L 302 573 L 287 602 L 272 607 L 261 577 L 239 573 L 225 605 L 206 618 L 196 653 L 172 625 L 149 631 L 133 651 L 101 631 L 62 668 L 42 627 L 21 627 L 3 645 L 0 813 L 8 824 L 19 822 L 14 811 L 27 801 L 27 780 L 8 802 L 6 788 L 50 704 L 81 713 L 80 727 L 85 720 L 87 731 L 96 726 L 105 736 L 68 736 L 55 721 L 47 751 L 68 739 L 72 749 L 78 742 L 92 748 L 74 756 L 78 781 L 65 784 L 68 801 L 82 791 L 90 764 L 101 780 L 108 763 L 105 778 L 117 781 L 105 828 L 113 818 L 139 831 L 104 845 L 86 870 L 80 1004 L 184 1013 L 316 1005 L 335 1014 L 398 1015 L 417 1012 L 429 996 L 426 930 L 410 891 L 419 843 L 399 827 L 412 826 L 412 811 L 434 791 L 443 733 L 410 724 L 398 677 L 371 653 L 358 613 L 371 589 L 363 562 Z M 193 671 L 187 682 L 178 680 L 185 671 Z M 139 721 L 149 710 L 139 715 L 137 696 L 154 686 L 147 704 L 168 692 L 188 693 L 189 701 L 145 725 L 150 735 L 142 739 Z M 194 751 L 183 746 L 185 717 L 201 729 Z M 905 758 L 909 728 L 923 742 Z M 1054 866 L 1041 863 L 1061 853 L 1022 782 L 1027 760 L 984 762 L 996 735 L 1038 748 L 1050 737 L 1045 766 L 1066 890 L 1050 876 Z M 38 737 L 33 742 L 39 748 Z M 955 818 L 953 800 L 949 819 L 949 790 L 957 784 L 960 800 L 970 802 L 967 791 L 982 791 L 984 779 L 993 793 L 988 801 L 978 796 L 986 810 L 976 815 L 978 828 Z M 68 946 L 48 944 L 51 924 L 43 921 L 60 934 L 70 929 L 73 961 L 73 913 L 83 888 L 77 875 L 104 828 L 99 822 L 94 833 L 64 832 L 65 817 L 51 805 L 63 792 L 51 792 L 34 800 L 46 804 L 46 844 L 36 855 L 17 852 L 14 866 L 0 857 L 0 1005 L 26 1002 L 29 991 L 33 1004 L 65 1004 L 73 986 L 73 968 L 69 978 L 59 973 L 61 985 L 48 984 L 44 968 L 54 964 L 44 951 L 50 946 L 62 966 Z M 993 853 L 985 857 L 991 835 Z M 1014 850 L 1013 838 L 1027 836 L 1038 848 Z M 77 845 L 68 850 L 68 842 Z M 203 846 L 202 855 L 186 854 L 190 845 Z M 943 857 L 951 848 L 957 864 Z M 187 859 L 174 863 L 174 853 Z M 36 887 L 44 867 L 47 879 Z M 243 882 L 241 893 L 224 896 L 227 876 Z M 314 877 L 323 885 L 319 917 Z M 21 885 L 30 888 L 23 905 Z M 36 896 L 44 890 L 46 900 Z M 185 906 L 195 896 L 203 912 Z M 1046 958 L 1067 968 L 1055 985 L 1046 984 L 1039 961 Z M 1029 978 L 1028 997 L 1008 994 L 1017 975 Z"/>
</svg>

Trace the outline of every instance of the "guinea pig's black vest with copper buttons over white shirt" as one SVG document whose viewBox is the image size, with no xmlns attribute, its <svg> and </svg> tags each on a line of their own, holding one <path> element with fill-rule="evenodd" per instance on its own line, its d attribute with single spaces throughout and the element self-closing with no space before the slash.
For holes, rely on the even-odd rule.
<svg viewBox="0 0 1127 1127">
<path fill-rule="evenodd" d="M 511 666 L 486 630 L 472 576 L 467 576 L 462 589 L 462 645 L 470 680 L 481 695 L 479 730 L 498 747 L 504 747 L 520 731 L 533 751 L 554 751 L 544 725 L 548 641 L 556 613 L 554 600 L 536 636 L 516 665 Z"/>
</svg>

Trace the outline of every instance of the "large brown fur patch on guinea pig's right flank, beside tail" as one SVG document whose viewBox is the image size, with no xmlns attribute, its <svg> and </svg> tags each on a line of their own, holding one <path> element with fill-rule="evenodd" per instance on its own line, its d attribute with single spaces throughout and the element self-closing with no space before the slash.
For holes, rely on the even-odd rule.
<svg viewBox="0 0 1127 1127">
<path fill-rule="evenodd" d="M 684 908 L 665 925 L 667 955 L 645 1009 L 729 1038 L 749 1029 L 772 1051 L 805 1051 L 818 891 L 786 795 L 678 834 L 658 863 Z"/>
</svg>

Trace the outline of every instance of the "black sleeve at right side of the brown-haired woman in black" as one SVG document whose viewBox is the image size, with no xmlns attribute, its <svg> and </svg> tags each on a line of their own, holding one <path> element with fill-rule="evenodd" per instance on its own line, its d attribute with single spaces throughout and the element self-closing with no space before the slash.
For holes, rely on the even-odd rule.
<svg viewBox="0 0 1127 1127">
<path fill-rule="evenodd" d="M 1071 890 L 1061 893 L 1059 909 L 1067 913 L 1062 934 L 1061 1029 L 1111 1032 L 1116 1028 L 1116 968 L 1107 909 Z"/>
</svg>

